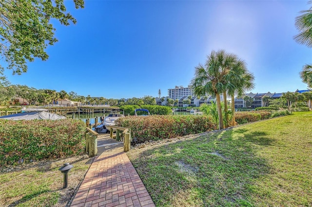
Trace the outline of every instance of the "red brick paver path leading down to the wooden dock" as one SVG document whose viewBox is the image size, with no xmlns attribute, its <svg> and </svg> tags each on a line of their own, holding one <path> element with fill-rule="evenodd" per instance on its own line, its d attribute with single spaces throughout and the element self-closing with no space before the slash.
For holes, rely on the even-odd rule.
<svg viewBox="0 0 312 207">
<path fill-rule="evenodd" d="M 71 207 L 155 207 L 137 171 L 123 152 L 123 143 L 98 136 L 98 155 Z"/>
</svg>

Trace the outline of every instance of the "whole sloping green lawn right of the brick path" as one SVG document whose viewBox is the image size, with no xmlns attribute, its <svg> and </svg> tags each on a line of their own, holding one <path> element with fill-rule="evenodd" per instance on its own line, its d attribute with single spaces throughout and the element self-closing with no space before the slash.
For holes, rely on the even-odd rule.
<svg viewBox="0 0 312 207">
<path fill-rule="evenodd" d="M 156 206 L 312 206 L 312 112 L 128 153 Z"/>
</svg>

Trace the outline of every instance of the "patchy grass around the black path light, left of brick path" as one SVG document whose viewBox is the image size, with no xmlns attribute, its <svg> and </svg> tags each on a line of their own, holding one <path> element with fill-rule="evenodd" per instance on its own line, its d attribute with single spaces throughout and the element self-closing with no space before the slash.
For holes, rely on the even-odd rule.
<svg viewBox="0 0 312 207">
<path fill-rule="evenodd" d="M 63 189 L 59 168 L 66 162 L 74 167 L 68 173 L 68 187 Z M 65 207 L 91 165 L 87 155 L 2 169 L 0 207 Z M 0 169 L 1 170 L 1 169 Z"/>
</svg>

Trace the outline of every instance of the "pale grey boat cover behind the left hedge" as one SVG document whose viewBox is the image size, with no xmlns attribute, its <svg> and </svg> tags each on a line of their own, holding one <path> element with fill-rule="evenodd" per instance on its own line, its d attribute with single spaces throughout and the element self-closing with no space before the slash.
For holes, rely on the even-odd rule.
<svg viewBox="0 0 312 207">
<path fill-rule="evenodd" d="M 18 114 L 2 116 L 0 119 L 6 120 L 61 120 L 66 119 L 64 116 L 49 113 L 46 111 L 32 111 Z"/>
</svg>

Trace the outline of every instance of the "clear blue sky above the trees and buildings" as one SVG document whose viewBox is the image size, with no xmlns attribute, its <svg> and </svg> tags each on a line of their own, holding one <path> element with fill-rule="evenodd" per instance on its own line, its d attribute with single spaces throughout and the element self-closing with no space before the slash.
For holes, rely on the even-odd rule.
<svg viewBox="0 0 312 207">
<path fill-rule="evenodd" d="M 195 66 L 215 50 L 244 59 L 254 73 L 252 92 L 306 89 L 298 75 L 312 63 L 312 49 L 293 40 L 299 12 L 308 0 L 106 1 L 85 0 L 67 10 L 76 25 L 53 21 L 49 59 L 28 71 L 5 75 L 12 84 L 75 91 L 105 98 L 167 96 L 168 88 L 187 86 Z"/>
</svg>

